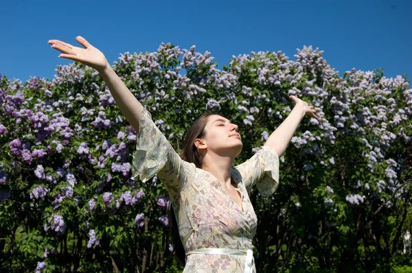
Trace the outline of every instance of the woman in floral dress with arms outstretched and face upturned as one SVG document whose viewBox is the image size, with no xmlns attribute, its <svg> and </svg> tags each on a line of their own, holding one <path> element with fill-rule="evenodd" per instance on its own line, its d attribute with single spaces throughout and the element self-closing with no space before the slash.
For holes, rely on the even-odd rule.
<svg viewBox="0 0 412 273">
<path fill-rule="evenodd" d="M 317 118 L 313 106 L 290 96 L 295 108 L 259 152 L 232 167 L 242 150 L 238 126 L 220 115 L 203 115 L 190 130 L 181 156 L 155 126 L 106 58 L 87 40 L 73 47 L 49 40 L 59 57 L 96 69 L 120 110 L 137 132 L 133 178 L 146 182 L 155 174 L 168 190 L 185 249 L 183 272 L 255 272 L 252 239 L 257 218 L 248 191 L 256 185 L 264 196 L 278 185 L 279 156 L 305 115 Z"/>
</svg>

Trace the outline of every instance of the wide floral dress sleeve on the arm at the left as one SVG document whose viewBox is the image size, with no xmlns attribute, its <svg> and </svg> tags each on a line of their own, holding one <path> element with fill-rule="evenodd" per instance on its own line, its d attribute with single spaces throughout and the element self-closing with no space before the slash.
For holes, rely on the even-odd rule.
<svg viewBox="0 0 412 273">
<path fill-rule="evenodd" d="M 194 164 L 181 159 L 152 121 L 150 112 L 143 108 L 133 153 L 132 179 L 146 182 L 157 174 L 174 199 L 179 198 L 183 184 L 187 181 L 186 172 L 192 169 Z"/>
</svg>

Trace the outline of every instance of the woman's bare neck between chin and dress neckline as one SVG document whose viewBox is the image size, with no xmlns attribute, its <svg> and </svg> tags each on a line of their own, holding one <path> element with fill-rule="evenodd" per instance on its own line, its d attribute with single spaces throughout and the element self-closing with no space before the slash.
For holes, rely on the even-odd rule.
<svg viewBox="0 0 412 273">
<path fill-rule="evenodd" d="M 231 155 L 212 154 L 208 152 L 203 158 L 202 169 L 213 174 L 222 185 L 231 185 L 231 167 L 234 157 Z"/>
</svg>

